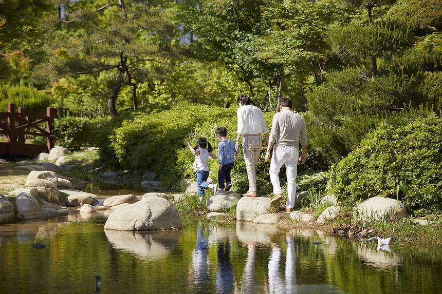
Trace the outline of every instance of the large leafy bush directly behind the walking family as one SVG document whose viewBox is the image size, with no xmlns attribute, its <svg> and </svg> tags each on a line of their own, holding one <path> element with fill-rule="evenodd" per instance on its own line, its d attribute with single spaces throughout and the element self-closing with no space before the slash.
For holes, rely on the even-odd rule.
<svg viewBox="0 0 442 294">
<path fill-rule="evenodd" d="M 149 110 L 151 111 L 151 110 Z M 158 174 L 170 173 L 175 177 L 195 177 L 192 164 L 195 160 L 187 142 L 195 145 L 201 136 L 207 138 L 217 154 L 218 140 L 215 129 L 224 126 L 228 130 L 228 139 L 236 139 L 236 108 L 209 107 L 207 105 L 186 104 L 170 110 L 134 113 L 124 120 L 120 127 L 108 129 L 111 148 L 115 152 L 118 164 L 126 169 L 154 170 Z M 270 129 L 274 113 L 264 113 Z M 111 148 L 107 147 L 107 150 Z M 101 145 L 100 145 L 101 152 Z M 109 153 L 106 155 L 110 159 Z M 307 153 L 307 161 L 319 166 L 315 153 Z M 319 157 L 320 160 L 320 157 Z M 218 160 L 209 159 L 210 175 L 217 179 Z M 272 191 L 269 179 L 270 164 L 265 162 L 265 147 L 256 165 L 256 178 L 261 195 Z M 308 169 L 308 165 L 299 166 L 298 172 Z M 281 178 L 285 171 L 282 170 Z M 240 151 L 232 170 L 232 182 L 239 192 L 246 192 L 248 179 L 243 154 Z"/>
</svg>

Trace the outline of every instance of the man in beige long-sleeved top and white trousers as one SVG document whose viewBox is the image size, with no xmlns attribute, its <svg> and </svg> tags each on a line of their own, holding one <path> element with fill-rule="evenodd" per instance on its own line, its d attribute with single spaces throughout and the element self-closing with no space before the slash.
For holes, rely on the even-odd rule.
<svg viewBox="0 0 442 294">
<path fill-rule="evenodd" d="M 304 118 L 291 110 L 292 102 L 288 98 L 280 100 L 280 112 L 273 115 L 269 145 L 266 152 L 266 161 L 270 161 L 270 149 L 273 144 L 273 155 L 270 163 L 270 181 L 273 185 L 274 197 L 271 204 L 278 204 L 282 199 L 282 190 L 279 181 L 279 172 L 285 164 L 287 172 L 288 200 L 286 211 L 291 212 L 295 205 L 300 205 L 296 199 L 296 175 L 298 158 L 302 164 L 306 160 L 307 129 Z M 299 156 L 299 138 L 301 136 L 302 154 Z"/>
</svg>

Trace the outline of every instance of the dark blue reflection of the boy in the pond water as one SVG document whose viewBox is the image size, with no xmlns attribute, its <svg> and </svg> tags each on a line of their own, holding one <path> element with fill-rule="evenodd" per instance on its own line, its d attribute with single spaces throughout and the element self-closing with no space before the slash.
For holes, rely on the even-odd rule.
<svg viewBox="0 0 442 294">
<path fill-rule="evenodd" d="M 218 272 L 216 273 L 216 291 L 218 293 L 233 293 L 233 269 L 230 264 L 230 244 L 218 243 Z"/>
</svg>

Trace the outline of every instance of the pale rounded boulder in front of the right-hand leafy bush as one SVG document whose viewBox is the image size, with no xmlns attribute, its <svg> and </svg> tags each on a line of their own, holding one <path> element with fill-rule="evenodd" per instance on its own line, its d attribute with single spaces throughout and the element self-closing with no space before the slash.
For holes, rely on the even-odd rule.
<svg viewBox="0 0 442 294">
<path fill-rule="evenodd" d="M 407 207 L 400 201 L 391 198 L 372 197 L 356 206 L 363 219 L 384 221 L 394 216 L 401 219 L 407 213 Z"/>
</svg>

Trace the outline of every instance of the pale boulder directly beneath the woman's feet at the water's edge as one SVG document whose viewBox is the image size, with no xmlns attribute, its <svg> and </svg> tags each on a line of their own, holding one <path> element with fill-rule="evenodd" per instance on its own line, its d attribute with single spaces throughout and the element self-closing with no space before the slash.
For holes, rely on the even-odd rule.
<svg viewBox="0 0 442 294">
<path fill-rule="evenodd" d="M 268 197 L 243 197 L 236 204 L 236 220 L 252 222 L 271 207 Z"/>
</svg>

